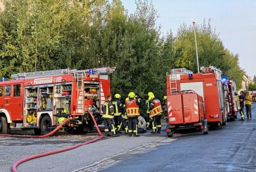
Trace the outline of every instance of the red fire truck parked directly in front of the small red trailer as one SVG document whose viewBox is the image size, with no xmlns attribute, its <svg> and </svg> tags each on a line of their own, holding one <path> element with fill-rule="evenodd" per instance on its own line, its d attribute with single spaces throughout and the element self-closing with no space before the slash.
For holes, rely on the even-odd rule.
<svg viewBox="0 0 256 172">
<path fill-rule="evenodd" d="M 204 100 L 205 118 L 209 125 L 222 128 L 226 123 L 227 114 L 221 71 L 212 66 L 202 67 L 201 70 L 202 73 L 193 74 L 186 68 L 173 69 L 171 74 L 166 76 L 167 95 L 182 90 L 195 91 Z M 172 111 L 168 109 L 168 115 L 170 113 Z"/>
</svg>

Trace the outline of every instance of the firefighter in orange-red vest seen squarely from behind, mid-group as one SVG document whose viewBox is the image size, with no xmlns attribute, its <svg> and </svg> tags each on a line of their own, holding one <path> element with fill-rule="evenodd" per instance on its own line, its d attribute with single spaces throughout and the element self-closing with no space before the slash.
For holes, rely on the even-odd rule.
<svg viewBox="0 0 256 172">
<path fill-rule="evenodd" d="M 140 116 L 140 98 L 136 100 L 135 94 L 133 92 L 129 93 L 128 95 L 129 100 L 125 102 L 126 113 L 128 118 L 128 134 L 129 137 L 132 136 L 132 132 L 134 137 L 138 137 L 138 116 Z"/>
</svg>

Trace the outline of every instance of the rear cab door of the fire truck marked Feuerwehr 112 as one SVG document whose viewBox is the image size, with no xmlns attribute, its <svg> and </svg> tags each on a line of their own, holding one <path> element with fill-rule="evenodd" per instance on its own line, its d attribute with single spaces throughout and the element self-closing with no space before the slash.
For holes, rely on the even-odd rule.
<svg viewBox="0 0 256 172">
<path fill-rule="evenodd" d="M 22 120 L 23 96 L 21 89 L 21 84 L 12 85 L 12 102 L 10 104 L 12 108 L 12 120 Z"/>
</svg>

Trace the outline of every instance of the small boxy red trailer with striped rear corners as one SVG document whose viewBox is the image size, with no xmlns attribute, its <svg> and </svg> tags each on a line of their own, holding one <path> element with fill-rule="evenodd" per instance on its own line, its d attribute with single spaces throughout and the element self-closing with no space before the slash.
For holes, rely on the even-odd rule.
<svg viewBox="0 0 256 172">
<path fill-rule="evenodd" d="M 168 95 L 168 124 L 166 134 L 172 137 L 175 130 L 198 129 L 208 134 L 209 126 L 204 114 L 203 98 L 192 90 Z"/>
</svg>

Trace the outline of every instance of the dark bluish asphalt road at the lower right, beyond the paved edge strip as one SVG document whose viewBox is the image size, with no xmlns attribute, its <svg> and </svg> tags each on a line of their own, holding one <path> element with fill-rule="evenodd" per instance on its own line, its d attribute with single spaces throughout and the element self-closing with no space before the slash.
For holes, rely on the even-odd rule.
<svg viewBox="0 0 256 172">
<path fill-rule="evenodd" d="M 186 134 L 150 152 L 117 155 L 115 171 L 256 171 L 256 105 L 252 120 L 228 122 L 208 135 Z"/>
</svg>

